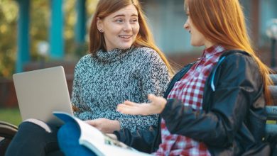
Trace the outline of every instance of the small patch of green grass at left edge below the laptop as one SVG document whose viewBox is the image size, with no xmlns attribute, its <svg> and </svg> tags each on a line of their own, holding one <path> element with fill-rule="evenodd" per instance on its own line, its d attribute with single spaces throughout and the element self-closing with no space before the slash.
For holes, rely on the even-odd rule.
<svg viewBox="0 0 277 156">
<path fill-rule="evenodd" d="M 0 108 L 0 121 L 18 126 L 21 123 L 19 108 Z"/>
</svg>

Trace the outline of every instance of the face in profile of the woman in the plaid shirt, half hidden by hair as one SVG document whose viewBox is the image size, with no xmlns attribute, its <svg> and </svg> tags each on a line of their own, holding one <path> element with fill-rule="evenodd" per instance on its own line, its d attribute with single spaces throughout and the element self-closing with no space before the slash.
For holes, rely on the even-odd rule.
<svg viewBox="0 0 277 156">
<path fill-rule="evenodd" d="M 184 28 L 185 28 L 185 30 L 188 30 L 188 32 L 191 35 L 190 44 L 193 46 L 196 46 L 196 47 L 200 47 L 202 45 L 205 45 L 206 48 L 212 47 L 212 45 L 214 45 L 214 44 L 211 43 L 209 40 L 207 40 L 205 38 L 205 36 L 202 33 L 200 33 L 200 31 L 197 30 L 197 28 L 192 23 L 192 21 L 190 19 L 189 11 L 187 11 L 187 15 L 188 15 L 188 19 L 185 22 Z"/>
</svg>

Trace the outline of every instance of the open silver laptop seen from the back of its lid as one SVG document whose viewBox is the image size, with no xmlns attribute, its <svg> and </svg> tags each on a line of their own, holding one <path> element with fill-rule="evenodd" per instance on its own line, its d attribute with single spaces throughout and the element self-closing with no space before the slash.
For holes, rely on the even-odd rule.
<svg viewBox="0 0 277 156">
<path fill-rule="evenodd" d="M 53 111 L 73 114 L 62 66 L 13 74 L 13 83 L 23 121 L 36 118 L 59 126 L 63 121 Z"/>
</svg>

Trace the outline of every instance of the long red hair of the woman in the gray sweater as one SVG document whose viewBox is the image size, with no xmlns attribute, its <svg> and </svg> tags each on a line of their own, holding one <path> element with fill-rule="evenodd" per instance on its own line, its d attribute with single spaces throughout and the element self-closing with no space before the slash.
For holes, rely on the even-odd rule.
<svg viewBox="0 0 277 156">
<path fill-rule="evenodd" d="M 166 59 L 163 52 L 161 52 L 161 50 L 155 44 L 153 35 L 146 23 L 146 16 L 141 9 L 141 4 L 139 3 L 139 0 L 99 0 L 89 30 L 89 52 L 92 53 L 92 55 L 95 55 L 98 50 L 106 50 L 104 35 L 103 33 L 99 33 L 99 30 L 97 29 L 97 18 L 103 19 L 110 14 L 119 11 L 120 9 L 123 9 L 124 7 L 131 4 L 133 4 L 138 11 L 140 26 L 139 33 L 136 36 L 136 40 L 134 42 L 134 46 L 148 47 L 156 50 L 163 62 L 165 62 L 165 65 L 168 67 L 170 75 L 173 76 L 173 68 L 170 66 L 170 63 Z"/>
</svg>

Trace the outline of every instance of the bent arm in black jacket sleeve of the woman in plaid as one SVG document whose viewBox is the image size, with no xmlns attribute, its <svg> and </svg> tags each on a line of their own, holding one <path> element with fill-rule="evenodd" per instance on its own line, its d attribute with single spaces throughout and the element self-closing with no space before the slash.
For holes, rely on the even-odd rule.
<svg viewBox="0 0 277 156">
<path fill-rule="evenodd" d="M 170 133 L 224 147 L 232 143 L 251 104 L 261 96 L 263 83 L 256 62 L 248 55 L 229 55 L 214 72 L 214 89 L 210 82 L 205 85 L 205 112 L 192 111 L 173 100 L 165 105 L 161 116 Z"/>
</svg>

